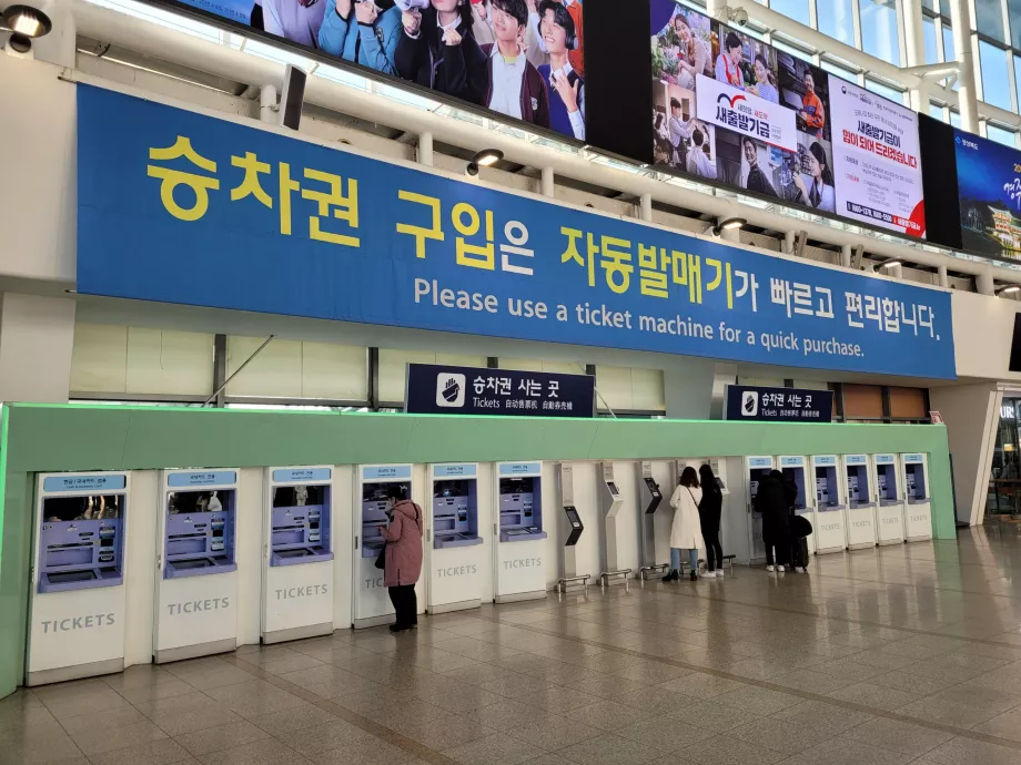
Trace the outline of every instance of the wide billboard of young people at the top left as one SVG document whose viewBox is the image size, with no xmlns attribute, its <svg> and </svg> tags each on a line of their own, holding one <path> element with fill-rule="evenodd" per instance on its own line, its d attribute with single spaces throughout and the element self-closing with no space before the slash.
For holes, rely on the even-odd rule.
<svg viewBox="0 0 1021 765">
<path fill-rule="evenodd" d="M 583 0 L 181 0 L 585 140 Z"/>
</svg>

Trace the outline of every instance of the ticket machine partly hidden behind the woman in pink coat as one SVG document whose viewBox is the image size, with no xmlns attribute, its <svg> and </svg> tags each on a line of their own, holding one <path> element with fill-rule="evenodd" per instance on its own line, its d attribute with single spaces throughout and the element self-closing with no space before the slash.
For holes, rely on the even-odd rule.
<svg viewBox="0 0 1021 765">
<path fill-rule="evenodd" d="M 412 498 L 411 465 L 363 465 L 358 468 L 354 497 L 354 572 L 353 572 L 353 620 L 358 630 L 394 620 L 394 606 L 383 584 L 383 570 L 376 568 L 376 560 L 383 551 L 383 529 L 390 523 L 386 517 L 387 492 L 396 483 L 401 496 Z M 424 519 L 423 519 L 424 521 Z M 415 588 L 422 598 L 421 583 Z"/>
</svg>

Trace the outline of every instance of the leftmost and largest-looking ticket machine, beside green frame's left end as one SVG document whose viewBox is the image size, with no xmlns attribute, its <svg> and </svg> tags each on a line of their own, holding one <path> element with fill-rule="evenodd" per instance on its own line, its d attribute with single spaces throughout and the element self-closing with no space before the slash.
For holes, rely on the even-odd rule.
<svg viewBox="0 0 1021 765">
<path fill-rule="evenodd" d="M 124 669 L 129 476 L 41 473 L 26 685 Z"/>
</svg>

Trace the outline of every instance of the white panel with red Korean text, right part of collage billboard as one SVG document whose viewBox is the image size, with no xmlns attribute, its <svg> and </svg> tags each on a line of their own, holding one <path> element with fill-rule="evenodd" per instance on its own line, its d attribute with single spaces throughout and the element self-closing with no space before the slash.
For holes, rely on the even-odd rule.
<svg viewBox="0 0 1021 765">
<path fill-rule="evenodd" d="M 926 233 L 918 115 L 875 93 L 833 80 L 837 214 L 909 236 Z"/>
</svg>

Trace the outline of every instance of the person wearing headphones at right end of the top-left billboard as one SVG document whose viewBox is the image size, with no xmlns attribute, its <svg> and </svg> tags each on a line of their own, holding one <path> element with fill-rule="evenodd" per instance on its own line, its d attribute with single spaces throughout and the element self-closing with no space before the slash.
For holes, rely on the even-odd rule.
<svg viewBox="0 0 1021 765">
<path fill-rule="evenodd" d="M 549 91 L 549 126 L 585 140 L 585 80 L 570 65 L 569 53 L 578 44 L 574 19 L 558 0 L 539 4 L 539 31 L 549 53 L 549 63 L 539 74 Z"/>
</svg>

